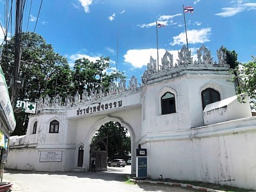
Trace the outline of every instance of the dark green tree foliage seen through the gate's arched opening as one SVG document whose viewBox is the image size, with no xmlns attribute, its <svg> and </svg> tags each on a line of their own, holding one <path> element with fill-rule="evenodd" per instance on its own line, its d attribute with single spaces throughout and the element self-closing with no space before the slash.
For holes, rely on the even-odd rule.
<svg viewBox="0 0 256 192">
<path fill-rule="evenodd" d="M 118 122 L 108 122 L 95 132 L 92 142 L 108 137 L 108 157 L 125 158 L 131 152 L 131 137 L 129 131 L 122 127 Z"/>
</svg>

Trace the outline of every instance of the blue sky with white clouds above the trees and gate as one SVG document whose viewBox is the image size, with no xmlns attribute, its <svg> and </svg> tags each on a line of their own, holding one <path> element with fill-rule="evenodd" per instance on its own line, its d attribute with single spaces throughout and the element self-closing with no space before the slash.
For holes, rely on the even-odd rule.
<svg viewBox="0 0 256 192">
<path fill-rule="evenodd" d="M 41 3 L 32 1 L 29 15 L 30 2 L 27 0 L 24 10 L 23 31 L 27 24 L 28 31 L 34 30 Z M 127 79 L 132 75 L 140 79 L 150 55 L 157 58 L 156 21 L 165 25 L 158 29 L 159 58 L 167 50 L 175 61 L 177 51 L 186 44 L 182 4 L 194 8 L 194 13 L 185 13 L 189 49 L 194 56 L 202 44 L 211 51 L 214 61 L 221 45 L 235 50 L 241 62 L 256 55 L 256 1 L 249 0 L 43 1 L 35 33 L 52 44 L 55 52 L 66 56 L 71 67 L 77 58 L 95 61 L 108 56 L 115 68 L 118 45 L 118 70 Z M 4 0 L 0 0 L 0 21 L 4 27 Z"/>
</svg>

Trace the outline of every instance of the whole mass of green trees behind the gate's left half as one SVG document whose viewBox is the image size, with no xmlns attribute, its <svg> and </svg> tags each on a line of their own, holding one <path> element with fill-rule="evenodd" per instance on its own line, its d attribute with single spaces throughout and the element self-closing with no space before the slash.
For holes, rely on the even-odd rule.
<svg viewBox="0 0 256 192">
<path fill-rule="evenodd" d="M 54 52 L 51 44 L 36 33 L 21 34 L 21 57 L 19 77 L 24 79 L 24 86 L 17 91 L 15 100 L 28 99 L 35 102 L 39 97 L 54 97 L 60 95 L 63 99 L 68 95 L 74 96 L 76 92 L 83 93 L 84 88 L 99 88 L 102 83 L 108 86 L 110 81 L 124 78 L 124 74 L 115 72 L 110 68 L 109 58 L 100 57 L 92 62 L 85 58 L 75 62 L 70 68 L 67 59 Z M 13 63 L 15 52 L 15 36 L 3 44 L 1 67 L 3 68 L 6 83 L 10 85 L 13 76 Z M 9 93 L 12 94 L 10 86 Z M 10 98 L 12 95 L 10 95 Z M 28 114 L 15 111 L 17 125 L 14 134 L 26 134 Z"/>
</svg>

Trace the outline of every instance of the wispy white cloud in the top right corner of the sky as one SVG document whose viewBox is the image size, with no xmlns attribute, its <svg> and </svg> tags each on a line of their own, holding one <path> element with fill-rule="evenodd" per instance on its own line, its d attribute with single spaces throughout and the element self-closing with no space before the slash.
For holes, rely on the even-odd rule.
<svg viewBox="0 0 256 192">
<path fill-rule="evenodd" d="M 237 13 L 256 9 L 256 3 L 244 3 L 244 1 L 232 1 L 231 3 L 234 3 L 234 6 L 221 8 L 222 12 L 216 13 L 215 15 L 220 17 L 232 17 Z"/>
</svg>

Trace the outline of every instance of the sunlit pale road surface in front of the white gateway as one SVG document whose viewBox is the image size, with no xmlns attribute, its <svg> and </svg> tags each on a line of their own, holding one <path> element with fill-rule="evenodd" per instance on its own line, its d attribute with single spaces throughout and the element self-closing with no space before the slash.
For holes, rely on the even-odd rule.
<svg viewBox="0 0 256 192">
<path fill-rule="evenodd" d="M 116 189 L 124 189 L 124 191 L 163 191 L 163 192 L 184 192 L 184 191 L 193 191 L 190 189 L 182 189 L 182 188 L 173 188 L 172 186 L 166 186 L 166 185 L 159 185 L 159 184 L 134 184 L 131 182 L 125 182 L 128 180 L 127 172 L 125 172 L 125 169 L 122 168 L 108 168 L 108 171 L 103 172 L 33 172 L 33 171 L 24 171 L 24 170 L 4 170 L 4 175 L 10 180 L 12 180 L 13 186 L 17 188 L 16 191 L 20 191 L 21 189 L 33 189 L 33 188 L 40 188 L 38 186 L 42 186 L 42 180 L 44 180 L 44 183 L 48 183 L 47 188 L 50 188 L 53 177 L 56 179 L 54 180 L 54 184 L 63 184 L 63 187 L 66 191 L 69 189 L 70 186 L 83 186 L 83 188 L 86 188 L 86 184 L 94 183 L 99 184 L 99 188 L 96 185 L 97 189 L 109 189 L 109 186 L 111 188 L 115 189 L 113 191 L 116 191 Z M 38 177 L 37 177 L 38 176 Z M 4 177 L 4 176 L 3 176 Z M 20 179 L 19 179 L 20 178 Z M 22 178 L 22 179 L 21 179 Z M 24 181 L 24 178 L 26 178 L 26 181 Z M 29 181 L 28 181 L 29 180 Z M 91 181 L 90 181 L 91 180 Z M 100 181 L 102 180 L 102 181 Z M 106 181 L 115 181 L 115 182 L 109 182 L 106 183 Z M 117 181 L 117 182 L 116 182 Z M 67 184 L 68 183 L 68 184 Z M 127 185 L 134 185 L 134 188 Z M 118 187 L 116 186 L 118 185 Z M 119 186 L 120 185 L 120 186 Z M 87 186 L 88 187 L 88 186 Z M 129 190 L 128 190 L 129 189 Z M 14 190 L 15 191 L 15 190 Z M 25 190 L 26 191 L 26 190 Z M 44 186 L 45 191 L 45 186 Z M 97 190 L 96 190 L 97 191 Z M 39 190 L 40 192 L 40 190 Z"/>
</svg>

